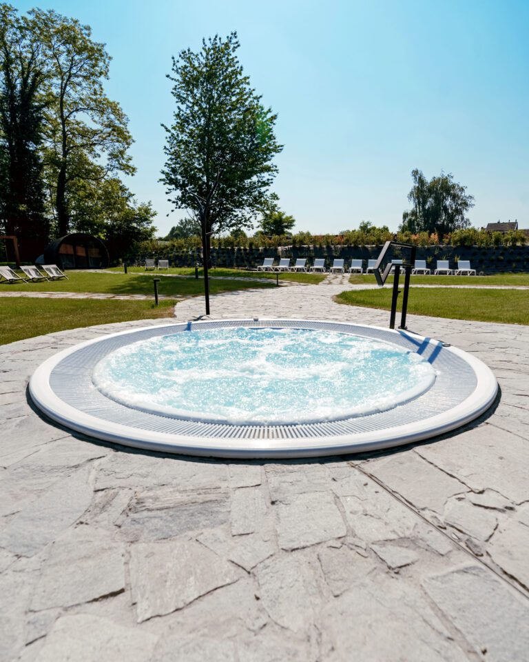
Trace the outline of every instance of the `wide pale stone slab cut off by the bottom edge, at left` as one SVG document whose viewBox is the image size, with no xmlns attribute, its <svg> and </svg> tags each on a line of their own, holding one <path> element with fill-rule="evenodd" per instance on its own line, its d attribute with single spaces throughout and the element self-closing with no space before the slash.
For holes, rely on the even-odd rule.
<svg viewBox="0 0 529 662">
<path fill-rule="evenodd" d="M 147 662 L 157 641 L 158 636 L 150 632 L 125 628 L 100 616 L 62 616 L 46 637 L 36 662 Z"/>
</svg>

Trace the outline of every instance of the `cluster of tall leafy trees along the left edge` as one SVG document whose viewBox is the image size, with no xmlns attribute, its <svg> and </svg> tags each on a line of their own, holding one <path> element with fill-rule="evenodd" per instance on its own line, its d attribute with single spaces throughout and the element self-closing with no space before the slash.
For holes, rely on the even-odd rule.
<svg viewBox="0 0 529 662">
<path fill-rule="evenodd" d="M 156 212 L 118 178 L 135 169 L 127 117 L 105 93 L 109 66 L 89 26 L 0 3 L 0 230 L 28 257 L 73 231 L 116 251 L 154 235 Z"/>
</svg>

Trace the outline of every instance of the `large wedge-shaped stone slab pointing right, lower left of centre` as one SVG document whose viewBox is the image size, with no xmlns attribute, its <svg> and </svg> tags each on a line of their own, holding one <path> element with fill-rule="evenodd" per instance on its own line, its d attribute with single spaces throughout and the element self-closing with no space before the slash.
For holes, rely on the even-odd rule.
<svg viewBox="0 0 529 662">
<path fill-rule="evenodd" d="M 234 565 L 196 541 L 136 543 L 131 548 L 130 582 L 138 623 L 181 609 L 239 577 Z"/>
</svg>

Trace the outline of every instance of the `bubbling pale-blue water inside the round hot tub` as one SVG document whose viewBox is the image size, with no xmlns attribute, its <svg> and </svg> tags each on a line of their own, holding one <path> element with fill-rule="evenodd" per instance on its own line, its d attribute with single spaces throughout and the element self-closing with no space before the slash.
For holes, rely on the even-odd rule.
<svg viewBox="0 0 529 662">
<path fill-rule="evenodd" d="M 428 390 L 435 371 L 414 352 L 351 334 L 229 328 L 125 345 L 99 361 L 92 381 L 155 414 L 279 425 L 391 409 Z"/>
</svg>

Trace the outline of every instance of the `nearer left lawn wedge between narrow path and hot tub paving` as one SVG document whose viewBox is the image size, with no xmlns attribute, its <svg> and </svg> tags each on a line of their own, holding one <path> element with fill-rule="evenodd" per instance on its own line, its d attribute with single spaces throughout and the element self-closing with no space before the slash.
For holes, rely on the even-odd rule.
<svg viewBox="0 0 529 662">
<path fill-rule="evenodd" d="M 96 301 L 0 297 L 0 344 L 45 333 L 132 319 L 172 317 L 174 301 Z"/>
</svg>

